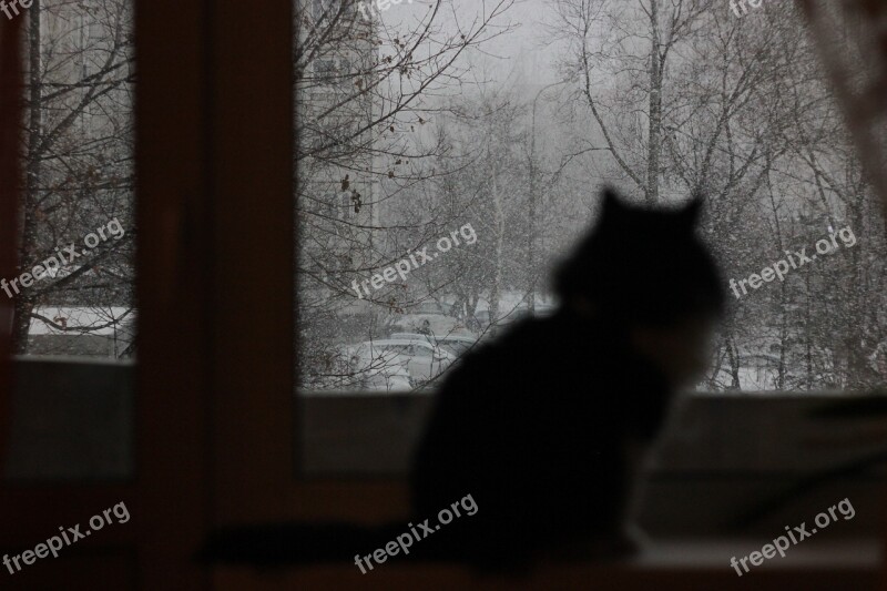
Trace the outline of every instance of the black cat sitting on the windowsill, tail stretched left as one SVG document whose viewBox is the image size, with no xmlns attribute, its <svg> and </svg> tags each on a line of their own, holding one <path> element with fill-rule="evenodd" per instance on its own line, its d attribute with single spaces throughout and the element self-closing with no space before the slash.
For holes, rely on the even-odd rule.
<svg viewBox="0 0 887 591">
<path fill-rule="evenodd" d="M 675 389 L 704 367 L 724 303 L 715 263 L 694 234 L 700 207 L 694 200 L 650 211 L 604 192 L 599 222 L 555 274 L 557 313 L 522 320 L 452 370 L 410 480 L 414 521 L 430 518 L 434 534 L 406 558 L 499 570 L 628 548 L 641 458 Z M 467 496 L 473 514 L 434 527 Z M 406 530 L 242 528 L 216 536 L 204 556 L 351 562 L 355 551 L 384 548 Z"/>
</svg>

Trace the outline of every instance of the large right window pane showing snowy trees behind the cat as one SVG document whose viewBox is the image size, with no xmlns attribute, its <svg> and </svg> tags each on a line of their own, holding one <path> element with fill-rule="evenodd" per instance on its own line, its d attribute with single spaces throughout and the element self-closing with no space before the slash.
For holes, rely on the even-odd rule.
<svg viewBox="0 0 887 591">
<path fill-rule="evenodd" d="M 336 351 L 396 338 L 447 356 L 406 364 L 427 393 L 552 314 L 550 269 L 604 184 L 705 196 L 731 308 L 700 389 L 884 383 L 884 224 L 802 14 L 653 4 L 297 3 L 303 390 L 359 389 Z M 835 14 L 858 58 L 853 24 Z"/>
</svg>

